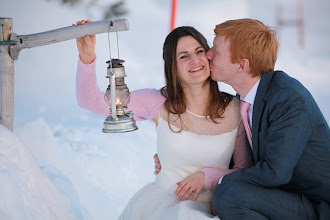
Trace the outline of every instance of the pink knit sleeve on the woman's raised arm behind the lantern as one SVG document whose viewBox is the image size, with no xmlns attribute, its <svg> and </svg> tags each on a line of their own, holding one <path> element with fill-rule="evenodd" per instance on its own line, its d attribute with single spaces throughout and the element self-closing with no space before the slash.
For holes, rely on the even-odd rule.
<svg viewBox="0 0 330 220">
<path fill-rule="evenodd" d="M 104 92 L 97 85 L 95 60 L 91 64 L 83 64 L 78 59 L 76 95 L 81 108 L 98 115 L 109 115 L 109 106 L 104 101 Z M 164 101 L 165 98 L 159 90 L 136 90 L 131 92 L 127 110 L 133 112 L 135 120 L 152 120 L 159 112 Z"/>
</svg>

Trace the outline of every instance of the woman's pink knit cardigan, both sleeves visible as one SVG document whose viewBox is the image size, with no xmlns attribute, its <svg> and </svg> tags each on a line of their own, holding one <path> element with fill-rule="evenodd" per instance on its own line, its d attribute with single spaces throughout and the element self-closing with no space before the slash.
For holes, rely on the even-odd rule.
<svg viewBox="0 0 330 220">
<path fill-rule="evenodd" d="M 102 92 L 97 85 L 95 60 L 91 64 L 83 64 L 80 59 L 78 60 L 76 95 L 79 106 L 95 114 L 108 116 L 109 106 L 104 101 L 104 92 Z M 138 121 L 152 120 L 158 114 L 164 102 L 165 98 L 161 95 L 160 90 L 136 90 L 131 92 L 131 99 L 127 110 L 132 111 L 134 113 L 134 118 Z M 233 154 L 235 162 L 234 168 L 221 169 L 207 167 L 200 170 L 205 174 L 205 188 L 214 190 L 221 177 L 249 165 L 245 142 L 244 128 L 240 126 Z"/>
</svg>

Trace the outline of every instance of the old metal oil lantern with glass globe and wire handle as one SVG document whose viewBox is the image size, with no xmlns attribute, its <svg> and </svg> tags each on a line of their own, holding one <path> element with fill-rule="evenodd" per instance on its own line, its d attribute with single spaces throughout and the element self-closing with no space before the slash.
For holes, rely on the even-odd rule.
<svg viewBox="0 0 330 220">
<path fill-rule="evenodd" d="M 105 133 L 122 133 L 135 131 L 138 129 L 138 127 L 136 126 L 136 122 L 133 118 L 133 113 L 125 112 L 130 101 L 130 93 L 124 80 L 126 73 L 123 63 L 125 61 L 119 59 L 118 32 L 116 32 L 118 58 L 113 59 L 111 57 L 111 26 L 113 26 L 112 21 L 110 22 L 108 31 L 110 60 L 106 62 L 108 63 L 106 78 L 109 78 L 109 85 L 104 95 L 104 100 L 110 108 L 110 115 L 105 119 L 102 131 Z"/>
</svg>

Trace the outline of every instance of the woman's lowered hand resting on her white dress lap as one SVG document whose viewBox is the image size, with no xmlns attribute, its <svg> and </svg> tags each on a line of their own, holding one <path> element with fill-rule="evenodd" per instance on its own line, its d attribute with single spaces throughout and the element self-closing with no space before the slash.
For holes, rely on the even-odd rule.
<svg viewBox="0 0 330 220">
<path fill-rule="evenodd" d="M 187 200 L 192 193 L 195 193 L 193 201 L 199 196 L 199 193 L 205 188 L 205 174 L 198 171 L 191 174 L 186 179 L 178 182 L 178 188 L 176 189 L 174 195 L 178 197 L 179 201 Z"/>
</svg>

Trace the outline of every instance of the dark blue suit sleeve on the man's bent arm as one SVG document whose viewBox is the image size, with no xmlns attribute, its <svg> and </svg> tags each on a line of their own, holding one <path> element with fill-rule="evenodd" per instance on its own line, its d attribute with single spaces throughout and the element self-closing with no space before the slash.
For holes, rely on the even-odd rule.
<svg viewBox="0 0 330 220">
<path fill-rule="evenodd" d="M 259 149 L 264 160 L 255 166 L 240 169 L 223 178 L 226 181 L 278 187 L 290 181 L 311 135 L 310 117 L 305 98 L 294 89 L 278 90 L 265 104 L 261 121 L 268 128 L 259 131 Z"/>
</svg>

